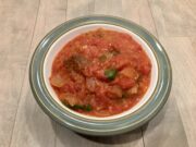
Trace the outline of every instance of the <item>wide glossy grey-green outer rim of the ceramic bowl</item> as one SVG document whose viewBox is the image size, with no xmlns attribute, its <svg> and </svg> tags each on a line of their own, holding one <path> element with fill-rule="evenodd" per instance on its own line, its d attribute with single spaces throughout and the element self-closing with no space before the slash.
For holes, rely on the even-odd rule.
<svg viewBox="0 0 196 147">
<path fill-rule="evenodd" d="M 112 121 L 89 120 L 64 110 L 48 93 L 42 79 L 42 65 L 51 45 L 69 30 L 89 24 L 111 24 L 123 27 L 142 37 L 151 48 L 158 62 L 158 83 L 151 98 L 136 112 Z M 108 15 L 90 15 L 68 21 L 44 37 L 32 57 L 29 83 L 36 101 L 53 120 L 82 134 L 106 136 L 132 131 L 152 119 L 161 110 L 169 97 L 172 85 L 172 70 L 163 47 L 148 30 L 124 19 Z"/>
</svg>

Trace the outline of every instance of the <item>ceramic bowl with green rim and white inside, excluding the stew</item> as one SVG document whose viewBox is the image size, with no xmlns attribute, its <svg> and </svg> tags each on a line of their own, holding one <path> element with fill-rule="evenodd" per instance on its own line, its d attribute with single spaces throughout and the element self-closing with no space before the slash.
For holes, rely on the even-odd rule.
<svg viewBox="0 0 196 147">
<path fill-rule="evenodd" d="M 49 83 L 52 61 L 63 46 L 79 34 L 100 27 L 130 34 L 152 64 L 150 85 L 142 100 L 125 112 L 105 118 L 81 114 L 66 108 Z M 163 47 L 150 33 L 120 17 L 94 15 L 68 21 L 44 37 L 32 58 L 29 82 L 37 102 L 53 120 L 82 134 L 114 135 L 142 126 L 160 111 L 171 89 L 172 74 Z"/>
</svg>

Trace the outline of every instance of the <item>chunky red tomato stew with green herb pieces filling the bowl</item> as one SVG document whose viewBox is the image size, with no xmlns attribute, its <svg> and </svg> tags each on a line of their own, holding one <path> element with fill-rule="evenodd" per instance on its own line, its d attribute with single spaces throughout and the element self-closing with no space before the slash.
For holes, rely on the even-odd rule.
<svg viewBox="0 0 196 147">
<path fill-rule="evenodd" d="M 130 35 L 98 28 L 62 48 L 52 63 L 50 84 L 70 109 L 109 117 L 143 98 L 150 73 L 149 58 Z"/>
</svg>

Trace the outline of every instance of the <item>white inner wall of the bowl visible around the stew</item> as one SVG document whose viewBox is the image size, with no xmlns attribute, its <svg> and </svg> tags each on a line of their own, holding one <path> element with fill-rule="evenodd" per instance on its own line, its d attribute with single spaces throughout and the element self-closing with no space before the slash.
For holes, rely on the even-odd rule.
<svg viewBox="0 0 196 147">
<path fill-rule="evenodd" d="M 133 37 L 133 39 L 135 39 L 143 47 L 143 49 L 145 50 L 145 52 L 149 57 L 151 64 L 152 64 L 150 85 L 149 85 L 148 90 L 144 95 L 144 97 L 140 99 L 140 101 L 127 111 L 124 111 L 120 114 L 115 114 L 115 115 L 111 115 L 111 117 L 105 117 L 105 118 L 89 117 L 89 115 L 81 114 L 81 113 L 77 113 L 77 112 L 66 108 L 59 100 L 58 96 L 56 95 L 54 90 L 50 86 L 50 82 L 49 82 L 49 77 L 51 75 L 51 68 L 52 68 L 53 59 L 56 58 L 58 52 L 64 47 L 64 45 L 82 33 L 86 33 L 88 30 L 94 30 L 94 29 L 100 28 L 100 27 L 106 28 L 106 29 L 111 29 L 111 30 L 117 30 L 117 32 L 130 34 Z M 110 25 L 110 24 L 89 24 L 89 25 L 79 26 L 77 28 L 69 30 L 68 33 L 62 35 L 58 40 L 56 40 L 52 44 L 52 46 L 50 47 L 49 51 L 46 54 L 45 62 L 44 62 L 44 81 L 45 81 L 45 84 L 48 88 L 48 91 L 50 93 L 52 98 L 65 110 L 72 112 L 76 115 L 86 118 L 86 119 L 111 120 L 111 119 L 118 119 L 118 118 L 124 117 L 126 114 L 133 113 L 134 111 L 138 110 L 142 106 L 144 106 L 148 101 L 148 99 L 150 98 L 150 96 L 154 93 L 156 85 L 157 85 L 158 63 L 157 63 L 157 60 L 156 60 L 154 52 L 151 51 L 150 47 L 145 42 L 145 40 L 143 40 L 138 35 L 134 34 L 133 32 L 127 30 L 125 28 L 122 28 L 120 26 Z"/>
</svg>

